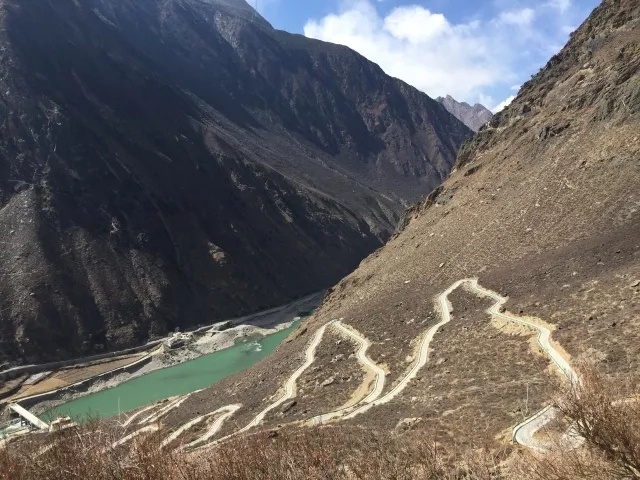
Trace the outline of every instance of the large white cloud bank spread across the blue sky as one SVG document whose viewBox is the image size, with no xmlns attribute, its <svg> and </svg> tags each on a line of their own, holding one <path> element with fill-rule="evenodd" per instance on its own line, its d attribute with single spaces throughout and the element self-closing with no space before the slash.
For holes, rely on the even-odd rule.
<svg viewBox="0 0 640 480">
<path fill-rule="evenodd" d="M 309 20 L 304 34 L 349 46 L 432 97 L 450 94 L 487 107 L 544 65 L 566 41 L 567 17 L 576 20 L 558 15 L 571 9 L 571 0 L 523 0 L 516 9 L 509 2 L 492 18 L 466 23 L 420 5 L 383 15 L 380 5 L 343 0 L 337 13 Z"/>
</svg>

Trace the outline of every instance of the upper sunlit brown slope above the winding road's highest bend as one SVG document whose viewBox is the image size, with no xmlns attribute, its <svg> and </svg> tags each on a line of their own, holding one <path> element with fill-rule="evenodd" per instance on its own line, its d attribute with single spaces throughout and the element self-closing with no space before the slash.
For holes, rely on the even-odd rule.
<svg viewBox="0 0 640 480">
<path fill-rule="evenodd" d="M 510 295 L 511 311 L 558 325 L 556 338 L 573 356 L 594 349 L 612 372 L 638 372 L 639 17 L 634 1 L 598 7 L 474 138 L 404 230 L 334 289 L 320 315 L 345 317 L 374 338 L 393 330 L 377 357 L 394 355 L 401 369 L 411 333 L 402 320 L 424 318 L 433 295 L 479 276 Z M 454 348 L 434 343 L 438 356 Z M 485 348 L 509 361 L 500 342 Z M 468 362 L 482 361 L 473 352 L 470 345 Z"/>
</svg>

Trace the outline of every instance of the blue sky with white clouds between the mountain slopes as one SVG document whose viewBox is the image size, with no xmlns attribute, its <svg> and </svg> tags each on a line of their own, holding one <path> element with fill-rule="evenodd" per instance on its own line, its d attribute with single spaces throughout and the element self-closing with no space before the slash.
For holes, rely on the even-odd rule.
<svg viewBox="0 0 640 480">
<path fill-rule="evenodd" d="M 431 97 L 499 111 L 599 0 L 247 0 L 278 29 L 346 45 Z"/>
</svg>

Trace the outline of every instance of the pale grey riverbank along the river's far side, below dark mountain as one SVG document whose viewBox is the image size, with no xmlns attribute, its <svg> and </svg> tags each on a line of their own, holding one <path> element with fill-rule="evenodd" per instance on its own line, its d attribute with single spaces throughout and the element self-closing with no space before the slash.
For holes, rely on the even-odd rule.
<svg viewBox="0 0 640 480">
<path fill-rule="evenodd" d="M 127 368 L 127 365 L 124 365 L 120 370 L 88 376 L 78 384 L 51 389 L 45 392 L 42 401 L 38 401 L 34 397 L 22 397 L 12 401 L 25 402 L 30 410 L 36 414 L 41 414 L 67 402 L 117 387 L 124 382 L 157 370 L 180 365 L 204 355 L 228 349 L 242 339 L 254 336 L 263 338 L 280 332 L 291 326 L 296 317 L 314 310 L 322 302 L 322 298 L 323 293 L 319 292 L 267 311 L 218 322 L 192 332 L 174 334 L 165 339 L 161 348 L 156 348 L 153 352 L 145 352 L 143 355 L 146 355 L 147 358 L 144 361 L 138 359 L 135 363 L 139 362 L 139 366 L 136 365 L 135 368 Z M 175 344 L 176 339 L 179 340 L 179 347 L 168 348 L 167 345 L 172 342 Z M 75 368 L 74 371 L 77 372 L 78 376 L 81 376 L 83 370 L 90 372 L 92 368 L 95 369 L 96 366 L 90 364 L 80 366 Z M 48 381 L 52 383 L 52 378 L 55 377 L 47 376 L 42 382 Z M 37 385 L 38 383 L 34 384 L 34 386 Z M 55 386 L 55 383 L 52 383 L 52 385 Z M 39 395 L 41 394 L 39 393 Z"/>
</svg>

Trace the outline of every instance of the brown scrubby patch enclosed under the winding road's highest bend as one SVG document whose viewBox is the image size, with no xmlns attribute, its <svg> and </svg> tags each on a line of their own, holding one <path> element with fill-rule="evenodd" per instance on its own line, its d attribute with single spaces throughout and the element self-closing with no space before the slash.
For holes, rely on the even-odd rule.
<svg viewBox="0 0 640 480">
<path fill-rule="evenodd" d="M 539 410 L 555 379 L 545 372 L 546 359 L 531 348 L 530 332 L 512 335 L 492 325 L 485 312 L 492 302 L 462 289 L 449 299 L 452 319 L 436 335 L 429 363 L 402 395 L 365 418 L 397 432 L 399 419 L 418 419 L 414 428 L 458 445 L 492 436 L 509 441 L 506 427 Z M 475 434 L 469 435 L 470 425 Z"/>
</svg>

